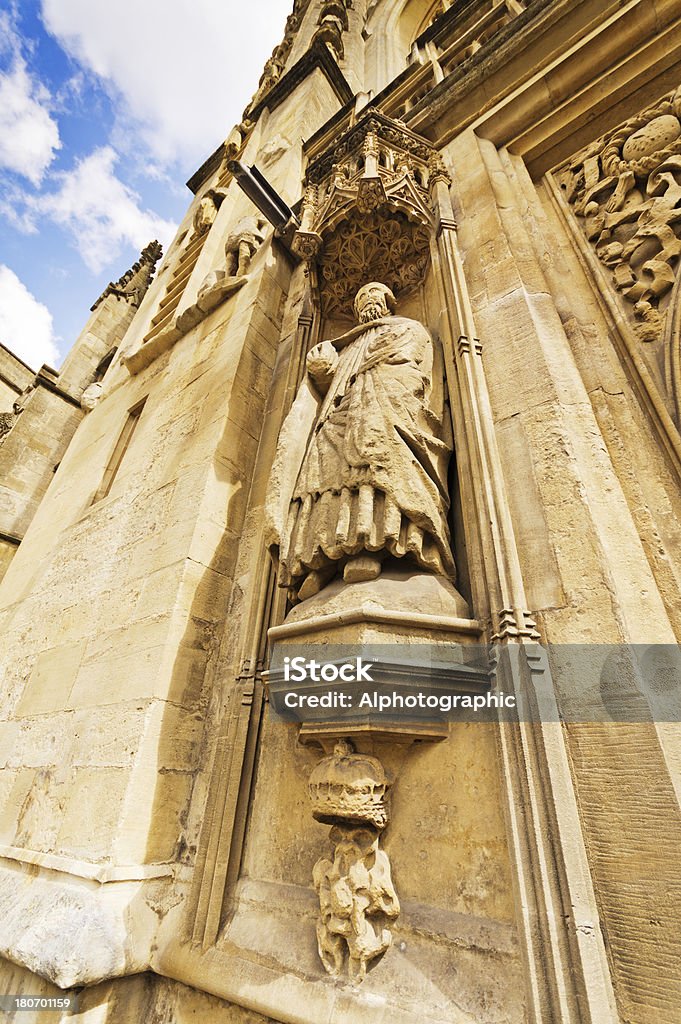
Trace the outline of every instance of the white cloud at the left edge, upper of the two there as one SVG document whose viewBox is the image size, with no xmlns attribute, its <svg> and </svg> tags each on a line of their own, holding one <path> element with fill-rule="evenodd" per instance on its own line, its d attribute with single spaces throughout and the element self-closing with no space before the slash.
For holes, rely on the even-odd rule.
<svg viewBox="0 0 681 1024">
<path fill-rule="evenodd" d="M 0 167 L 39 185 L 61 145 L 49 113 L 50 94 L 29 74 L 6 11 L 0 11 L 0 38 L 2 51 L 10 56 L 9 69 L 0 72 Z"/>
</svg>

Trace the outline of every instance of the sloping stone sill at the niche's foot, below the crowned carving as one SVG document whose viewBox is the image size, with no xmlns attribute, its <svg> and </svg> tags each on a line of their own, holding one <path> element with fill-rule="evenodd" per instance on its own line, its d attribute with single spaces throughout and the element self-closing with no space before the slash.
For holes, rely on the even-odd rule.
<svg viewBox="0 0 681 1024">
<path fill-rule="evenodd" d="M 485 1005 L 491 993 L 518 1001 L 513 925 L 410 900 L 402 910 L 391 949 L 356 986 L 318 963 L 312 890 L 242 880 L 215 945 L 183 941 L 178 915 L 186 911 L 177 908 L 162 923 L 152 969 L 283 1024 L 479 1024 L 502 1019 Z M 456 985 L 435 982 L 438 967 Z"/>
</svg>

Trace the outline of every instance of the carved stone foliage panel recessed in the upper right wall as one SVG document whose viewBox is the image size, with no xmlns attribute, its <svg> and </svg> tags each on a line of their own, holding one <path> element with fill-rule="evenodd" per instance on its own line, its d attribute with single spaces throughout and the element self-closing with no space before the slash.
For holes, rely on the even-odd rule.
<svg viewBox="0 0 681 1024">
<path fill-rule="evenodd" d="M 659 342 L 681 254 L 681 88 L 558 172 L 641 342 Z"/>
</svg>

